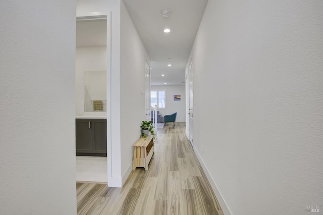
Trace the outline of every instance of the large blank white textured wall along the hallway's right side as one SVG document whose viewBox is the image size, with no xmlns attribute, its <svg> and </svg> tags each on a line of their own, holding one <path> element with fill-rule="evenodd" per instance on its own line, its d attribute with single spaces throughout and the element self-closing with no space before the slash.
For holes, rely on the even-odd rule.
<svg viewBox="0 0 323 215">
<path fill-rule="evenodd" d="M 318 0 L 208 1 L 192 49 L 194 142 L 231 214 L 322 205 L 322 11 Z"/>
</svg>

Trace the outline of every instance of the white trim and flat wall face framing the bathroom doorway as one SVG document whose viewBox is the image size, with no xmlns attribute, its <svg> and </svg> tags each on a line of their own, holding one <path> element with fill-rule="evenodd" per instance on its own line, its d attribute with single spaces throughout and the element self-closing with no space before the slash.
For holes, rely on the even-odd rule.
<svg viewBox="0 0 323 215">
<path fill-rule="evenodd" d="M 121 187 L 120 134 L 120 0 L 78 0 L 77 17 L 107 16 L 106 130 L 107 183 Z"/>
</svg>

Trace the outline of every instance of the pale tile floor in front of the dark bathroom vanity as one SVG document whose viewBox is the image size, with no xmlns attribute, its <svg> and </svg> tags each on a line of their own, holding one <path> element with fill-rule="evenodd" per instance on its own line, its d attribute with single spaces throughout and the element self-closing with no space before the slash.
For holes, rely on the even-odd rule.
<svg viewBox="0 0 323 215">
<path fill-rule="evenodd" d="M 106 157 L 76 156 L 76 181 L 107 183 Z"/>
</svg>

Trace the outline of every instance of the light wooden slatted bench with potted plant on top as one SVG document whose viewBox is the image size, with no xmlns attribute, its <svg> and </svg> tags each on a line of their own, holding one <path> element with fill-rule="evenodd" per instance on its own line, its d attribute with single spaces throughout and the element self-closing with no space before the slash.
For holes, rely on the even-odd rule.
<svg viewBox="0 0 323 215">
<path fill-rule="evenodd" d="M 148 170 L 148 164 L 154 154 L 153 136 L 141 137 L 134 145 L 133 170 L 143 167 Z"/>
</svg>

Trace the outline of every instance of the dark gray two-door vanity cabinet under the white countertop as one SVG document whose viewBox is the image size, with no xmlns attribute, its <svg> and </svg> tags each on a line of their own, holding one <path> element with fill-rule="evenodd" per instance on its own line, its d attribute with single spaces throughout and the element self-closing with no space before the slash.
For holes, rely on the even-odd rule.
<svg viewBox="0 0 323 215">
<path fill-rule="evenodd" d="M 106 156 L 106 119 L 76 119 L 76 155 Z"/>
</svg>

